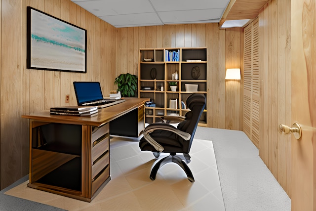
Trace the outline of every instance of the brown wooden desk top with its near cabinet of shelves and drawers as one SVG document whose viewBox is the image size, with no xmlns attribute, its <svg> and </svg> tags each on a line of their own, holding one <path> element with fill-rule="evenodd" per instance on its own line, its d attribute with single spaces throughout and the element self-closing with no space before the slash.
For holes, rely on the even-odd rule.
<svg viewBox="0 0 316 211">
<path fill-rule="evenodd" d="M 109 123 L 147 98 L 99 109 L 94 117 L 23 115 L 30 119 L 31 188 L 91 202 L 110 181 Z"/>
</svg>

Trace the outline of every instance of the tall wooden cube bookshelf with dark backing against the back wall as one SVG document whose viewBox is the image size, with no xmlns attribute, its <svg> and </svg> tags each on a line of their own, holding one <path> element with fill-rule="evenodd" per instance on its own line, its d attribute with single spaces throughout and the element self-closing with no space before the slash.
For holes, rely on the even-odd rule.
<svg viewBox="0 0 316 211">
<path fill-rule="evenodd" d="M 206 96 L 206 79 L 206 47 L 140 48 L 138 96 L 151 98 L 155 104 L 145 107 L 145 122 L 162 122 L 160 117 L 170 114 L 184 116 L 189 111 L 186 109 L 186 100 L 192 93 Z M 176 91 L 170 89 L 171 83 L 176 83 Z M 197 91 L 187 91 L 185 84 L 196 84 Z M 205 107 L 199 126 L 206 126 L 206 114 Z"/>
</svg>

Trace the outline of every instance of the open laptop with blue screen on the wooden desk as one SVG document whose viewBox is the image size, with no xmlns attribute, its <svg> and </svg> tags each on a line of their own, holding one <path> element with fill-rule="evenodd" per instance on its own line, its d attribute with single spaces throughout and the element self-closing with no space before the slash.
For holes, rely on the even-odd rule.
<svg viewBox="0 0 316 211">
<path fill-rule="evenodd" d="M 99 82 L 74 82 L 79 106 L 98 106 L 104 108 L 124 102 L 124 99 L 104 98 Z"/>
</svg>

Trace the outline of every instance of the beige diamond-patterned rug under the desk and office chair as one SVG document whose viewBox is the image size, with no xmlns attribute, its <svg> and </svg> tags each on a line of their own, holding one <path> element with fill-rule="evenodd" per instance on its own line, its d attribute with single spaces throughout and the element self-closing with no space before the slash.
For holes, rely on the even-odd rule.
<svg viewBox="0 0 316 211">
<path fill-rule="evenodd" d="M 90 203 L 29 188 L 28 181 L 5 194 L 68 211 L 225 211 L 212 141 L 196 139 L 192 144 L 188 166 L 194 183 L 175 164 L 159 169 L 152 181 L 156 159 L 140 151 L 138 141 L 115 137 L 110 149 L 111 181 Z"/>
</svg>

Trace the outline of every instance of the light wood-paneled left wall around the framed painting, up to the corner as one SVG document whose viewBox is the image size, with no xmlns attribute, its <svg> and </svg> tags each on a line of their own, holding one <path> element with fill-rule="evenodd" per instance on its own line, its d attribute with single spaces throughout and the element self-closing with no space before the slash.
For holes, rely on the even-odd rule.
<svg viewBox="0 0 316 211">
<path fill-rule="evenodd" d="M 0 188 L 29 172 L 28 120 L 22 114 L 76 105 L 73 81 L 114 88 L 116 29 L 70 0 L 1 0 Z M 87 73 L 26 69 L 27 6 L 87 30 Z M 113 56 L 114 55 L 114 56 Z"/>
</svg>

